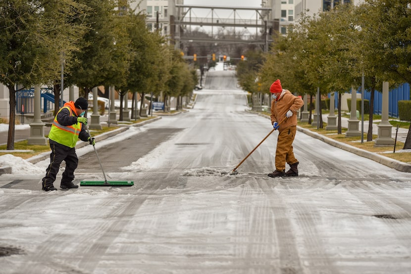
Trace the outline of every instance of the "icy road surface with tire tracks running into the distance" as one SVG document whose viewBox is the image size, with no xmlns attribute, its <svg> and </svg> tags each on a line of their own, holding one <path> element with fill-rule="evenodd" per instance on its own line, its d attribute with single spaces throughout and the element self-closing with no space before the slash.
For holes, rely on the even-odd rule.
<svg viewBox="0 0 411 274">
<path fill-rule="evenodd" d="M 0 273 L 411 273 L 410 174 L 297 132 L 301 177 L 272 179 L 274 132 L 221 175 L 272 127 L 245 112 L 234 72 L 205 88 L 189 112 L 96 144 L 109 180 L 132 187 L 44 192 L 48 161 L 10 158 Z M 75 183 L 102 180 L 92 147 L 78 154 Z"/>
</svg>

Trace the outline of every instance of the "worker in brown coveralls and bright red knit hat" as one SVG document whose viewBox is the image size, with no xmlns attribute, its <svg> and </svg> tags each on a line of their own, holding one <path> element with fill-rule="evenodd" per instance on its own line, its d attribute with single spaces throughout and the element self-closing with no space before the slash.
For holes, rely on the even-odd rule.
<svg viewBox="0 0 411 274">
<path fill-rule="evenodd" d="M 297 131 L 296 112 L 304 105 L 301 97 L 283 90 L 277 79 L 270 87 L 271 124 L 278 130 L 277 148 L 275 150 L 275 171 L 269 177 L 298 176 L 298 160 L 294 156 L 293 141 Z M 285 172 L 285 163 L 290 170 Z"/>
</svg>

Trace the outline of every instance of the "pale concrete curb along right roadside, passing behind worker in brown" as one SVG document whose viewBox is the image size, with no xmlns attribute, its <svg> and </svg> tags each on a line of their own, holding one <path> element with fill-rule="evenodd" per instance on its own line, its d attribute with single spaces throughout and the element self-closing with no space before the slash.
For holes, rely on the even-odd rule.
<svg viewBox="0 0 411 274">
<path fill-rule="evenodd" d="M 257 112 L 250 111 L 250 110 L 246 110 L 246 111 L 250 112 L 250 113 L 257 114 L 257 115 L 262 116 L 264 118 L 270 119 L 270 117 L 268 115 L 257 113 Z M 377 154 L 377 153 L 369 152 L 369 151 L 357 148 L 355 146 L 351 146 L 351 145 L 343 143 L 343 142 L 338 142 L 334 139 L 325 137 L 321 134 L 312 132 L 308 129 L 304 129 L 304 128 L 299 127 L 299 126 L 297 126 L 297 130 L 304 133 L 304 134 L 307 134 L 310 137 L 314 137 L 314 138 L 319 139 L 319 140 L 321 140 L 321 141 L 323 141 L 327 144 L 330 144 L 332 146 L 338 147 L 340 149 L 344 149 L 348 152 L 357 154 L 361 157 L 373 160 L 373 161 L 375 161 L 377 163 L 380 163 L 384 166 L 387 166 L 387 167 L 390 167 L 390 168 L 393 168 L 395 170 L 402 171 L 402 172 L 411 172 L 411 165 L 410 164 L 400 162 L 400 161 L 391 159 L 389 157 L 385 157 L 385 156 Z"/>
</svg>

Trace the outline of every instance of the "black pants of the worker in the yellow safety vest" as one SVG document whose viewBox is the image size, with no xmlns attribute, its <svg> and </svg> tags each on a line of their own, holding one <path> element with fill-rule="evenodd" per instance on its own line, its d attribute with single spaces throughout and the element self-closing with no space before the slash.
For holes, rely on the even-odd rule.
<svg viewBox="0 0 411 274">
<path fill-rule="evenodd" d="M 78 164 L 76 149 L 59 144 L 53 140 L 49 141 L 51 148 L 50 165 L 46 170 L 46 176 L 43 178 L 43 187 L 53 185 L 62 161 L 66 162 L 66 169 L 63 172 L 60 184 L 69 185 L 74 180 L 74 171 Z"/>
</svg>

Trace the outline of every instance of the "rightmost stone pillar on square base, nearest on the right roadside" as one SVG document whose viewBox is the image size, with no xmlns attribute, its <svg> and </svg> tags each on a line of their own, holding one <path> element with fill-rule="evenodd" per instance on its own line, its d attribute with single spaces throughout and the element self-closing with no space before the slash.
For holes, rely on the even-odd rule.
<svg viewBox="0 0 411 274">
<path fill-rule="evenodd" d="M 381 123 L 378 127 L 378 137 L 375 139 L 374 146 L 394 145 L 392 136 L 393 126 L 388 121 L 388 82 L 382 83 L 382 113 Z"/>
</svg>

